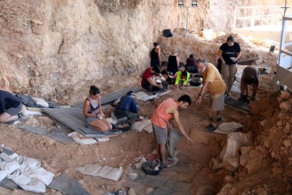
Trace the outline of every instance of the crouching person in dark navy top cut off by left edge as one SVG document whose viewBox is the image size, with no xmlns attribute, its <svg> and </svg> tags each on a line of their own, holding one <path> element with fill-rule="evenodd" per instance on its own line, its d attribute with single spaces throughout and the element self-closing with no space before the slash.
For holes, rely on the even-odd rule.
<svg viewBox="0 0 292 195">
<path fill-rule="evenodd" d="M 23 103 L 16 95 L 0 90 L 0 122 L 12 122 L 20 118 Z"/>
</svg>

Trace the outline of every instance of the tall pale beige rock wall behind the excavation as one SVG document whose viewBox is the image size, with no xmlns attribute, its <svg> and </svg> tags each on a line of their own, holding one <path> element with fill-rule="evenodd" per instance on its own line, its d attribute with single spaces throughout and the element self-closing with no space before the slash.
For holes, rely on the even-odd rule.
<svg viewBox="0 0 292 195">
<path fill-rule="evenodd" d="M 198 1 L 189 28 L 229 32 L 233 12 L 222 5 L 266 2 L 279 1 Z M 184 27 L 185 14 L 169 0 L 2 0 L 0 88 L 58 100 L 104 76 L 139 73 L 152 42 L 165 28 Z"/>
</svg>

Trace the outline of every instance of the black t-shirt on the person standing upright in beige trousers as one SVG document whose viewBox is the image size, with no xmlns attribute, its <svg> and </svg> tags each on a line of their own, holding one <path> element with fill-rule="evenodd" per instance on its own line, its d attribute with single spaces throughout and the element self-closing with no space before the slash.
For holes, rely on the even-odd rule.
<svg viewBox="0 0 292 195">
<path fill-rule="evenodd" d="M 222 57 L 226 64 L 236 64 L 237 61 L 233 61 L 230 59 L 231 57 L 237 57 L 237 53 L 241 52 L 241 46 L 238 44 L 238 42 L 234 42 L 233 46 L 229 47 L 227 45 L 227 42 L 225 42 L 220 47 L 222 51 Z"/>
</svg>

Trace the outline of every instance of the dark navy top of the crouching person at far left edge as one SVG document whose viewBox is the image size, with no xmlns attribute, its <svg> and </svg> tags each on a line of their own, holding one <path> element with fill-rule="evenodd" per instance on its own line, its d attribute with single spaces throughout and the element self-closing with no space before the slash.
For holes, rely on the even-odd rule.
<svg viewBox="0 0 292 195">
<path fill-rule="evenodd" d="M 6 90 L 0 90 L 0 114 L 10 107 L 18 107 L 21 100 Z"/>
</svg>

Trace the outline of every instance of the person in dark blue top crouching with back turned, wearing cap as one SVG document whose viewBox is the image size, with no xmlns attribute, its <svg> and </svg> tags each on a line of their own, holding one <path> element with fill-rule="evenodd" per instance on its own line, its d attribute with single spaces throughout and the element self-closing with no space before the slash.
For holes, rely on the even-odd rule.
<svg viewBox="0 0 292 195">
<path fill-rule="evenodd" d="M 114 111 L 114 115 L 116 115 L 118 119 L 123 117 L 127 117 L 130 120 L 138 119 L 139 106 L 134 97 L 135 93 L 133 90 L 130 90 L 121 98 L 120 102 L 118 102 L 118 106 Z"/>
</svg>

